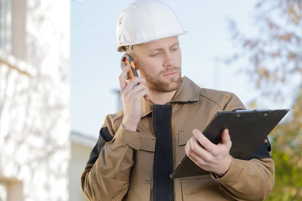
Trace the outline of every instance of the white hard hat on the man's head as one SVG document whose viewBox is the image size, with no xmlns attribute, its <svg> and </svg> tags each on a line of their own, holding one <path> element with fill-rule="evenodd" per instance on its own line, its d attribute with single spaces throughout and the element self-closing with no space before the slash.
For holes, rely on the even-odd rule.
<svg viewBox="0 0 302 201">
<path fill-rule="evenodd" d="M 120 14 L 116 27 L 116 49 L 187 33 L 174 11 L 160 0 L 137 0 Z"/>
</svg>

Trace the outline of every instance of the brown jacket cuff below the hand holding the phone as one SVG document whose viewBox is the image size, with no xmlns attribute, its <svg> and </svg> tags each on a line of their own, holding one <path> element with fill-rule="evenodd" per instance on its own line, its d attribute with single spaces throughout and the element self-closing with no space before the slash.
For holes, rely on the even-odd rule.
<svg viewBox="0 0 302 201">
<path fill-rule="evenodd" d="M 143 141 L 141 133 L 126 130 L 123 124 L 120 125 L 113 139 L 136 150 L 139 150 Z"/>
</svg>

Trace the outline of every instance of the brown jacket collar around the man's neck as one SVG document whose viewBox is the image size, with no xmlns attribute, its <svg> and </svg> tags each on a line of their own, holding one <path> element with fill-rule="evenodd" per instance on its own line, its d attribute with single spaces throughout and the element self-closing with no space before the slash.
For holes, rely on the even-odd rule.
<svg viewBox="0 0 302 201">
<path fill-rule="evenodd" d="M 184 76 L 182 78 L 180 87 L 177 89 L 174 97 L 169 103 L 188 103 L 197 102 L 199 100 L 200 87 L 195 84 L 191 79 Z M 141 118 L 147 116 L 153 111 L 153 103 L 146 101 L 144 98 L 141 100 Z"/>
</svg>

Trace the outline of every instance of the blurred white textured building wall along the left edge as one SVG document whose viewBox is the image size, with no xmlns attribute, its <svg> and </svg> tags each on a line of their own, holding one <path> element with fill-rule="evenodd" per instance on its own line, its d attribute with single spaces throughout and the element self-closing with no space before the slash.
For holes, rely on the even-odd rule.
<svg viewBox="0 0 302 201">
<path fill-rule="evenodd" d="M 0 0 L 0 200 L 68 200 L 69 21 L 70 0 Z"/>
</svg>

